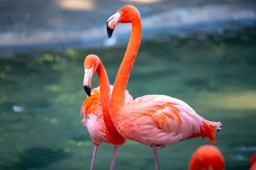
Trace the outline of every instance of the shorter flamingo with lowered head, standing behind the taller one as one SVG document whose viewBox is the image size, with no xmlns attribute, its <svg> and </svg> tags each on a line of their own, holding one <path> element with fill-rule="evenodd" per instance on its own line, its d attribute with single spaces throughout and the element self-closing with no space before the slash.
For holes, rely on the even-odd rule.
<svg viewBox="0 0 256 170">
<path fill-rule="evenodd" d="M 91 91 L 92 74 L 95 71 L 97 71 L 99 76 L 99 87 L 93 88 Z M 88 55 L 85 58 L 84 72 L 84 90 L 88 96 L 81 107 L 81 113 L 84 113 L 82 122 L 83 126 L 85 125 L 87 127 L 94 144 L 93 160 L 90 170 L 93 170 L 97 148 L 102 142 L 115 145 L 110 168 L 110 170 L 113 170 L 117 148 L 127 140 L 117 132 L 110 118 L 110 97 L 113 85 L 109 85 L 106 70 L 96 55 Z M 127 103 L 132 100 L 132 96 L 125 90 L 125 102 Z M 111 135 L 106 126 L 111 130 Z"/>
</svg>

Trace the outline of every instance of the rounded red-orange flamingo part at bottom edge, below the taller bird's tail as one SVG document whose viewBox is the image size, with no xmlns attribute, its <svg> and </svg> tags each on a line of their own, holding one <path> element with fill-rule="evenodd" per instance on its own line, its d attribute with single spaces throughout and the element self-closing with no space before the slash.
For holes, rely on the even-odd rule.
<svg viewBox="0 0 256 170">
<path fill-rule="evenodd" d="M 189 162 L 189 170 L 224 170 L 225 159 L 218 147 L 205 144 L 198 147 Z"/>
</svg>

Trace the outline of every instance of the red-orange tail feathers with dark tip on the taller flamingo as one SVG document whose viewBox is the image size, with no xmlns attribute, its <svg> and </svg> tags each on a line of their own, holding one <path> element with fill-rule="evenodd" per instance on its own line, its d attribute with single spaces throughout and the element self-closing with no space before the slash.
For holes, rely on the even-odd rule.
<svg viewBox="0 0 256 170">
<path fill-rule="evenodd" d="M 212 142 L 216 143 L 215 136 L 217 132 L 221 131 L 221 122 L 211 122 L 204 118 L 202 119 L 203 126 L 200 129 L 200 133 L 193 133 L 187 139 L 201 136 L 203 139 L 207 137 L 211 141 L 211 144 Z"/>
</svg>

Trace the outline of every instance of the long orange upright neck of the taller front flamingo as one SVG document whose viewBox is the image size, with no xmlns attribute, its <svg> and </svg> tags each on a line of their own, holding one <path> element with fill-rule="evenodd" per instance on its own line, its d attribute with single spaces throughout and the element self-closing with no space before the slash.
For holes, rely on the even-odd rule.
<svg viewBox="0 0 256 170">
<path fill-rule="evenodd" d="M 140 48 L 142 25 L 138 18 L 132 23 L 131 38 L 125 57 L 120 65 L 111 94 L 111 113 L 117 113 L 125 105 L 125 89 L 129 80 L 132 66 Z"/>
</svg>

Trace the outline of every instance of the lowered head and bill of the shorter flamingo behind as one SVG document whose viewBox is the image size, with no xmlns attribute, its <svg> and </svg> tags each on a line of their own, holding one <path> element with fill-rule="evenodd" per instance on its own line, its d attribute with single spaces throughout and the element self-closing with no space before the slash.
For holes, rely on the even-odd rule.
<svg viewBox="0 0 256 170">
<path fill-rule="evenodd" d="M 99 57 L 93 54 L 88 55 L 84 60 L 84 91 L 91 95 L 91 82 L 93 74 L 99 65 Z"/>
</svg>

